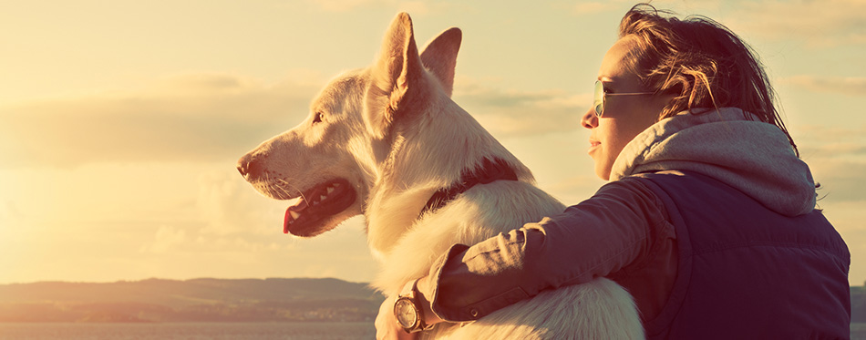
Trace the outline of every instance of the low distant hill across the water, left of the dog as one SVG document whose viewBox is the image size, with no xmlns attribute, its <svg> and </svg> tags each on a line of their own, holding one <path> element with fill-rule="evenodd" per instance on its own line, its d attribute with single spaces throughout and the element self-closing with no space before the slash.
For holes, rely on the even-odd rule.
<svg viewBox="0 0 866 340">
<path fill-rule="evenodd" d="M 0 322 L 372 322 L 384 299 L 337 279 L 15 283 Z"/>
</svg>

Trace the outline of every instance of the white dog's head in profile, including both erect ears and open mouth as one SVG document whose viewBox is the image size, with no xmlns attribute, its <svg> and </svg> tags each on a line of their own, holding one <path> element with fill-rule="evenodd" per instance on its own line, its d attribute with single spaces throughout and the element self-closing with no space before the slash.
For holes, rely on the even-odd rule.
<svg viewBox="0 0 866 340">
<path fill-rule="evenodd" d="M 448 29 L 419 54 L 411 19 L 397 15 L 372 67 L 335 77 L 314 98 L 308 118 L 238 161 L 264 195 L 300 198 L 285 211 L 284 232 L 315 236 L 363 213 L 387 162 L 395 120 L 433 95 L 450 95 L 460 40 L 459 29 Z"/>
</svg>

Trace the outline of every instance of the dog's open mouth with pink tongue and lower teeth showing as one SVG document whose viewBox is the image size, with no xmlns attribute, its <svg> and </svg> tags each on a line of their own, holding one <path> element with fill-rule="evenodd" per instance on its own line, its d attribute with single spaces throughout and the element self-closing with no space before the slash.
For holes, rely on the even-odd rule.
<svg viewBox="0 0 866 340">
<path fill-rule="evenodd" d="M 315 234 L 315 229 L 325 219 L 355 203 L 355 189 L 348 180 L 336 179 L 317 184 L 304 191 L 296 204 L 285 210 L 283 233 L 297 236 Z"/>
</svg>

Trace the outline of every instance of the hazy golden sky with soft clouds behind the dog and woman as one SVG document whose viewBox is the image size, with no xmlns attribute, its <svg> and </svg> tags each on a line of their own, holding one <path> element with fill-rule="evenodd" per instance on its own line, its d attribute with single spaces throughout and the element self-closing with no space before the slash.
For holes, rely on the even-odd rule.
<svg viewBox="0 0 866 340">
<path fill-rule="evenodd" d="M 866 281 L 866 0 L 655 1 L 753 46 Z M 393 17 L 463 31 L 453 98 L 566 204 L 604 182 L 579 118 L 624 1 L 0 0 L 0 284 L 336 277 L 369 282 L 363 220 L 282 232 L 235 169 Z"/>
</svg>

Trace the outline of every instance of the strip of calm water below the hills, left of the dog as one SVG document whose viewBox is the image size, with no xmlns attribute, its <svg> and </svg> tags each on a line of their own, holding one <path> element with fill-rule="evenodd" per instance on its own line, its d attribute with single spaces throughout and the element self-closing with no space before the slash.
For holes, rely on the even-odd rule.
<svg viewBox="0 0 866 340">
<path fill-rule="evenodd" d="M 0 340 L 374 339 L 373 323 L 0 324 Z"/>
</svg>

